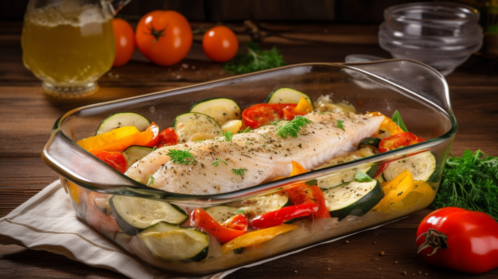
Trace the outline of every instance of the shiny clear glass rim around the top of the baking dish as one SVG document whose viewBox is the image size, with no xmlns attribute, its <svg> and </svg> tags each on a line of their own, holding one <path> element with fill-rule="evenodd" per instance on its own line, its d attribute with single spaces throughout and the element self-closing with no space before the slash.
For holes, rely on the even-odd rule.
<svg viewBox="0 0 498 279">
<path fill-rule="evenodd" d="M 442 79 L 442 81 L 444 81 L 444 86 L 445 86 L 445 93 L 444 94 L 445 94 L 445 99 L 447 101 L 446 105 L 448 106 L 449 113 L 448 113 L 448 111 L 446 111 L 446 109 L 444 109 L 441 106 L 433 103 L 432 101 L 424 98 L 423 96 L 420 96 L 419 94 L 417 94 L 415 92 L 412 92 L 412 91 L 410 91 L 410 90 L 408 90 L 406 88 L 403 88 L 400 85 L 397 85 L 397 84 L 395 84 L 393 82 L 390 82 L 390 81 L 388 81 L 388 80 L 386 80 L 386 79 L 384 79 L 382 77 L 379 77 L 379 76 L 377 76 L 377 75 L 375 75 L 375 74 L 373 74 L 371 72 L 368 72 L 368 71 L 365 71 L 365 70 L 362 70 L 362 69 L 354 67 L 355 65 L 378 64 L 378 63 L 389 62 L 389 61 L 410 61 L 410 62 L 414 62 L 414 63 L 420 64 L 420 65 L 423 65 L 424 67 L 427 67 L 428 69 L 432 70 L 436 75 L 439 75 L 440 78 Z M 399 149 L 387 151 L 387 152 L 380 153 L 380 154 L 375 154 L 373 156 L 361 158 L 361 159 L 358 159 L 358 160 L 355 160 L 355 161 L 351 161 L 351 162 L 345 162 L 345 163 L 342 163 L 342 164 L 339 164 L 339 165 L 335 165 L 335 166 L 331 166 L 331 167 L 327 167 L 327 168 L 324 168 L 324 169 L 313 170 L 313 171 L 310 171 L 310 172 L 307 172 L 307 173 L 304 173 L 304 174 L 301 174 L 301 175 L 297 175 L 297 176 L 293 176 L 293 177 L 281 179 L 281 180 L 274 181 L 274 182 L 268 182 L 268 183 L 264 183 L 264 184 L 260 184 L 260 185 L 256 185 L 256 186 L 252 186 L 252 187 L 248 187 L 248 188 L 244 188 L 244 189 L 239 189 L 239 190 L 235 190 L 235 191 L 231 191 L 231 192 L 227 192 L 227 193 L 209 194 L 209 195 L 180 194 L 180 193 L 166 192 L 166 191 L 163 191 L 163 190 L 158 190 L 158 189 L 151 188 L 151 187 L 148 187 L 146 185 L 143 185 L 141 183 L 138 183 L 138 182 L 132 180 L 131 178 L 125 176 L 124 174 L 119 173 L 118 171 L 115 171 L 115 173 L 117 175 L 126 178 L 130 182 L 130 184 L 135 185 L 135 186 L 124 186 L 124 188 L 126 188 L 127 191 L 102 190 L 102 189 L 100 189 L 98 187 L 95 187 L 93 185 L 84 183 L 84 181 L 82 181 L 82 180 L 80 180 L 80 179 L 78 179 L 76 177 L 70 177 L 70 178 L 66 177 L 67 173 L 66 173 L 66 175 L 61 174 L 53 166 L 53 165 L 57 165 L 57 164 L 55 162 L 51 161 L 49 158 L 46 158 L 46 156 L 45 156 L 45 152 L 46 152 L 48 146 L 50 145 L 52 139 L 56 136 L 56 134 L 59 134 L 59 133 L 60 133 L 60 135 L 62 135 L 62 137 L 66 138 L 67 140 L 70 140 L 72 143 L 74 143 L 74 145 L 75 145 L 76 148 L 79 148 L 79 149 L 83 150 L 81 147 L 79 147 L 78 145 L 76 145 L 76 143 L 74 141 L 72 141 L 72 139 L 70 139 L 67 135 L 65 135 L 60 130 L 60 124 L 62 123 L 62 121 L 64 121 L 64 119 L 66 117 L 68 117 L 68 116 L 70 116 L 70 115 L 72 115 L 72 114 L 74 114 L 74 113 L 76 113 L 76 112 L 78 112 L 80 110 L 83 110 L 83 109 L 86 109 L 86 108 L 89 108 L 89 107 L 95 107 L 95 106 L 101 106 L 101 105 L 116 103 L 116 102 L 122 102 L 122 101 L 125 101 L 125 100 L 131 100 L 131 99 L 142 98 L 142 97 L 156 95 L 156 94 L 162 94 L 162 93 L 167 93 L 167 92 L 174 92 L 174 91 L 184 90 L 184 89 L 188 89 L 188 88 L 199 87 L 199 86 L 204 86 L 204 85 L 213 84 L 213 83 L 219 83 L 219 82 L 227 81 L 227 80 L 231 80 L 231 79 L 239 79 L 239 78 L 242 78 L 242 77 L 247 77 L 247 76 L 251 76 L 251 75 L 255 75 L 255 74 L 261 74 L 261 73 L 264 73 L 264 72 L 275 71 L 275 70 L 279 70 L 279 69 L 285 69 L 285 68 L 291 68 L 291 67 L 301 67 L 301 66 L 318 66 L 318 65 L 340 66 L 340 67 L 343 67 L 343 68 L 348 68 L 348 69 L 352 69 L 352 70 L 355 70 L 355 71 L 359 71 L 359 72 L 362 72 L 362 73 L 364 73 L 364 74 L 372 77 L 373 79 L 381 81 L 382 83 L 389 84 L 389 85 L 391 85 L 391 86 L 393 86 L 393 87 L 395 87 L 397 89 L 400 89 L 402 91 L 414 94 L 414 95 L 418 96 L 419 98 L 423 99 L 427 104 L 430 104 L 433 107 L 436 107 L 440 112 L 446 114 L 448 116 L 448 118 L 450 119 L 450 121 L 451 121 L 451 127 L 450 127 L 450 129 L 445 134 L 443 134 L 443 135 L 441 135 L 441 136 L 439 136 L 437 138 L 430 139 L 430 140 L 427 140 L 427 141 L 424 141 L 424 142 L 421 142 L 421 143 L 417 143 L 417 144 L 414 144 L 414 145 L 410 145 L 410 146 L 407 146 L 407 147 L 403 147 L 403 148 L 399 148 Z M 313 180 L 313 179 L 317 179 L 317 178 L 319 178 L 319 177 L 321 177 L 323 175 L 330 174 L 331 171 L 338 171 L 338 170 L 343 170 L 343 169 L 349 169 L 349 168 L 357 167 L 357 166 L 360 166 L 360 165 L 363 165 L 363 164 L 366 164 L 366 163 L 375 163 L 375 162 L 384 161 L 384 160 L 388 161 L 390 159 L 394 160 L 394 159 L 396 159 L 396 158 L 398 158 L 400 156 L 406 155 L 406 154 L 427 151 L 429 148 L 434 147 L 434 146 L 436 146 L 436 145 L 438 145 L 440 143 L 443 143 L 443 142 L 445 142 L 445 141 L 450 140 L 451 138 L 453 138 L 455 136 L 455 134 L 456 134 L 457 129 L 458 129 L 458 123 L 456 121 L 455 115 L 453 114 L 453 110 L 451 108 L 451 103 L 450 103 L 450 98 L 449 98 L 449 91 L 448 91 L 448 85 L 446 84 L 446 80 L 444 79 L 444 77 L 439 72 L 437 72 L 432 67 L 427 66 L 426 64 L 423 64 L 423 63 L 415 61 L 415 60 L 410 60 L 410 59 L 389 59 L 389 60 L 366 62 L 366 63 L 303 63 L 303 64 L 294 64 L 294 65 L 279 67 L 279 68 L 275 68 L 275 69 L 270 69 L 270 70 L 265 70 L 265 71 L 260 71 L 260 72 L 245 74 L 245 75 L 238 75 L 238 76 L 234 76 L 234 77 L 229 77 L 229 78 L 225 78 L 225 79 L 210 81 L 210 82 L 206 82 L 206 83 L 195 84 L 195 85 L 191 85 L 191 86 L 187 86 L 187 87 L 182 87 L 182 88 L 176 88 L 176 89 L 170 89 L 170 90 L 165 90 L 165 91 L 160 91 L 160 92 L 148 93 L 148 94 L 143 94 L 143 95 L 139 95 L 139 96 L 133 96 L 133 97 L 128 97 L 128 98 L 123 98 L 123 99 L 118 99 L 118 100 L 113 100 L 113 101 L 108 101 L 108 102 L 102 102 L 102 103 L 97 103 L 97 104 L 92 104 L 92 105 L 87 105 L 87 106 L 75 108 L 73 110 L 68 111 L 67 113 L 65 113 L 64 115 L 62 115 L 61 117 L 59 117 L 59 119 L 57 119 L 55 121 L 54 126 L 52 128 L 52 135 L 51 135 L 51 137 L 50 137 L 47 145 L 43 149 L 42 158 L 45 161 L 45 163 L 47 163 L 47 165 L 49 165 L 49 167 L 51 167 L 52 169 L 54 169 L 57 173 L 59 173 L 60 175 L 64 176 L 66 179 L 68 179 L 69 181 L 75 183 L 76 185 L 82 186 L 82 187 L 87 188 L 87 189 L 89 189 L 91 191 L 103 192 L 103 193 L 108 193 L 108 194 L 130 195 L 130 196 L 142 196 L 141 193 L 143 193 L 143 192 L 154 192 L 156 195 L 159 195 L 158 193 L 163 193 L 163 194 L 160 195 L 160 196 L 158 196 L 158 197 L 153 197 L 153 198 L 155 198 L 155 199 L 161 199 L 161 200 L 167 200 L 167 201 L 172 201 L 172 202 L 176 202 L 176 203 L 182 203 L 182 202 L 187 202 L 188 201 L 189 204 L 205 204 L 205 203 L 209 203 L 209 204 L 221 204 L 221 203 L 226 203 L 226 202 L 230 202 L 230 201 L 235 201 L 235 200 L 238 200 L 238 199 L 241 199 L 241 198 L 247 198 L 247 197 L 250 197 L 250 196 L 256 196 L 256 195 L 260 195 L 260 194 L 265 194 L 265 193 L 269 193 L 269 192 L 272 192 L 272 191 L 276 191 L 276 190 L 279 190 L 279 189 L 288 188 L 288 187 L 294 186 L 295 183 L 310 181 L 310 180 Z M 89 156 L 93 156 L 89 152 L 87 152 L 87 151 L 85 151 L 85 152 Z M 103 164 L 103 165 L 106 165 L 106 164 Z M 107 167 L 111 168 L 110 166 L 107 166 Z"/>
</svg>

